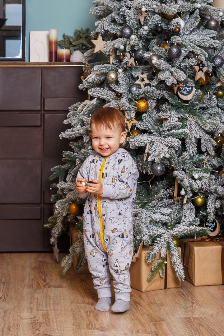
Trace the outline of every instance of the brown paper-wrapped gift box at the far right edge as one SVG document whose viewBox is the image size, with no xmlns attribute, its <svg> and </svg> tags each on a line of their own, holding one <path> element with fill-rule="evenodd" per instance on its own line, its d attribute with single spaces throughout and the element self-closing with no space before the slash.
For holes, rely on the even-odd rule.
<svg viewBox="0 0 224 336">
<path fill-rule="evenodd" d="M 194 286 L 224 284 L 224 238 L 181 239 L 185 279 Z"/>
</svg>

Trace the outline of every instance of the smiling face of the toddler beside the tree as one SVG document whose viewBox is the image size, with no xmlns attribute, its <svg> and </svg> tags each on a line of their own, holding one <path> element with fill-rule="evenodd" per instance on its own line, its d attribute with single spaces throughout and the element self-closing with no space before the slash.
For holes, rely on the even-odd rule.
<svg viewBox="0 0 224 336">
<path fill-rule="evenodd" d="M 115 153 L 119 149 L 120 143 L 123 143 L 127 133 L 121 132 L 118 127 L 111 125 L 112 129 L 98 129 L 93 123 L 91 125 L 92 146 L 94 151 L 101 154 L 105 159 Z"/>
</svg>

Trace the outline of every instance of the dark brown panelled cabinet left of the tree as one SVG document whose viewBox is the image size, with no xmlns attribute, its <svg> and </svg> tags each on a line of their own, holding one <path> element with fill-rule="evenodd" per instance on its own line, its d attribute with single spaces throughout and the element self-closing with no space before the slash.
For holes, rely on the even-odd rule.
<svg viewBox="0 0 224 336">
<path fill-rule="evenodd" d="M 29 65 L 29 66 L 28 66 Z M 0 251 L 52 251 L 51 168 L 69 150 L 59 134 L 69 107 L 87 99 L 82 65 L 0 62 Z M 58 248 L 67 250 L 67 234 Z"/>
</svg>

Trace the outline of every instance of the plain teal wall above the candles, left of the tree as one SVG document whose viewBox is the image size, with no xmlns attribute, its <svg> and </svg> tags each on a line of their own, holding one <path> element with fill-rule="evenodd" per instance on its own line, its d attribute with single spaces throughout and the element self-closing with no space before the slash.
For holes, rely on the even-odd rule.
<svg viewBox="0 0 224 336">
<path fill-rule="evenodd" d="M 92 6 L 91 0 L 26 0 L 26 61 L 30 59 L 31 31 L 54 28 L 61 40 L 63 33 L 73 36 L 75 29 L 95 30 L 94 15 L 89 13 Z"/>
</svg>

